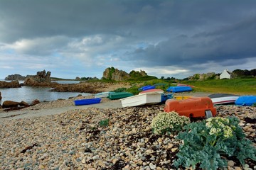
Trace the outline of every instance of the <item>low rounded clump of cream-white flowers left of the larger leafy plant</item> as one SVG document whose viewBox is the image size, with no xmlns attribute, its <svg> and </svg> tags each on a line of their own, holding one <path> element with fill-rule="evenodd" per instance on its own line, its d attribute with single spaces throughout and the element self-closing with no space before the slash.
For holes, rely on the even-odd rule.
<svg viewBox="0 0 256 170">
<path fill-rule="evenodd" d="M 178 132 L 188 123 L 190 123 L 188 117 L 178 115 L 174 111 L 170 113 L 160 112 L 153 118 L 151 128 L 155 134 L 162 135 L 166 132 Z"/>
</svg>

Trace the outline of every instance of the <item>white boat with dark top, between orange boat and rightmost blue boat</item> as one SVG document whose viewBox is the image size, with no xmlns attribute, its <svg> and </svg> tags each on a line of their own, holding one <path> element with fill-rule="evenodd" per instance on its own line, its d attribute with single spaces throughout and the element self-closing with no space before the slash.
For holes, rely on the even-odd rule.
<svg viewBox="0 0 256 170">
<path fill-rule="evenodd" d="M 214 105 L 218 104 L 235 104 L 235 101 L 239 98 L 238 95 L 234 94 L 210 94 L 208 96 Z"/>
</svg>

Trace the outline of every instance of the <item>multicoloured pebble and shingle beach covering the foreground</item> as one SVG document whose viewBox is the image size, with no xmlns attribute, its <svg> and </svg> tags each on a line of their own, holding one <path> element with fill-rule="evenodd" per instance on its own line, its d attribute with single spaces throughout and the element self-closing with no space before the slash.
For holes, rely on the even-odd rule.
<svg viewBox="0 0 256 170">
<path fill-rule="evenodd" d="M 82 96 L 78 97 L 82 98 Z M 102 102 L 112 102 L 107 98 Z M 73 106 L 73 99 L 24 108 Z M 218 115 L 235 115 L 248 139 L 256 143 L 256 107 L 216 106 Z M 151 121 L 164 104 L 132 108 L 73 109 L 58 115 L 0 119 L 0 169 L 175 169 L 181 141 L 176 134 L 154 135 Z M 0 114 L 4 114 L 1 112 Z M 100 125 L 102 120 L 107 125 Z M 256 169 L 233 160 L 228 169 Z"/>
</svg>

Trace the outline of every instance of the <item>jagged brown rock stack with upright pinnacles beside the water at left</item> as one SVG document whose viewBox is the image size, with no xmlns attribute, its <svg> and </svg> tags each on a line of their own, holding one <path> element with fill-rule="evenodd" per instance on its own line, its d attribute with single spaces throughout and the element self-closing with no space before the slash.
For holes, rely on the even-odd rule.
<svg viewBox="0 0 256 170">
<path fill-rule="evenodd" d="M 50 82 L 50 72 L 46 70 L 37 72 L 35 76 L 29 76 L 24 81 L 24 86 L 56 86 L 57 83 Z"/>
</svg>

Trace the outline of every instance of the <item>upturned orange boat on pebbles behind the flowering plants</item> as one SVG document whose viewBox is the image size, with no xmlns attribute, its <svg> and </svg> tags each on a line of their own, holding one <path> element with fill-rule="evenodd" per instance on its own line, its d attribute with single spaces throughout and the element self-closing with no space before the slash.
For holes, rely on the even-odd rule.
<svg viewBox="0 0 256 170">
<path fill-rule="evenodd" d="M 189 118 L 211 118 L 217 114 L 209 97 L 191 97 L 185 100 L 169 99 L 164 106 L 165 112 L 176 111 Z"/>
</svg>

